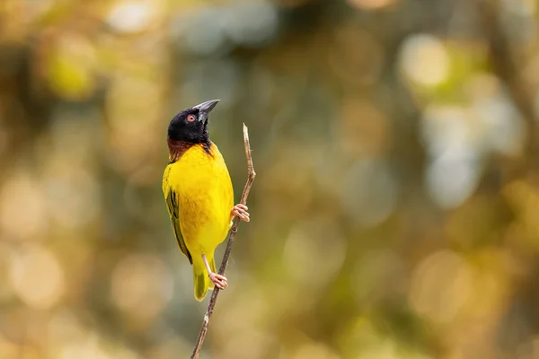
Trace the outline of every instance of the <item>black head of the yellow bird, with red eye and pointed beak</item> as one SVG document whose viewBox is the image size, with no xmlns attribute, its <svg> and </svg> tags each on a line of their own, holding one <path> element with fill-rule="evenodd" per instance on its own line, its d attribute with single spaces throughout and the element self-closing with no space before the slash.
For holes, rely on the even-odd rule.
<svg viewBox="0 0 539 359">
<path fill-rule="evenodd" d="M 168 138 L 188 144 L 209 144 L 208 114 L 219 100 L 202 102 L 179 112 L 168 128 Z"/>
</svg>

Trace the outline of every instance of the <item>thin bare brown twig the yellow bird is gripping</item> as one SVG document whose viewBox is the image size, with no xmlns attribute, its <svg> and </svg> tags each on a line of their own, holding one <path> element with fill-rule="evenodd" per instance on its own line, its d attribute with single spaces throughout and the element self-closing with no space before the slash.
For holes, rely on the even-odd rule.
<svg viewBox="0 0 539 359">
<path fill-rule="evenodd" d="M 252 166 L 251 145 L 249 144 L 249 132 L 247 131 L 247 127 L 245 126 L 245 124 L 243 124 L 243 144 L 245 145 L 245 157 L 247 158 L 248 172 L 247 182 L 245 183 L 245 187 L 243 187 L 242 199 L 240 200 L 240 203 L 245 205 L 247 203 L 247 196 L 249 196 L 249 191 L 251 191 L 252 181 L 256 176 L 256 173 L 254 172 L 254 167 Z M 234 236 L 235 233 L 238 232 L 239 223 L 240 219 L 238 217 L 234 217 L 234 223 L 232 224 L 232 228 L 230 229 L 230 235 L 228 236 L 228 242 L 226 243 L 225 255 L 223 256 L 221 267 L 219 267 L 219 274 L 221 276 L 225 275 L 226 265 L 228 264 L 228 257 L 230 257 L 230 252 L 232 251 L 232 245 L 234 244 Z M 217 295 L 219 295 L 219 288 L 216 287 L 213 290 L 213 293 L 211 293 L 211 298 L 209 299 L 208 304 L 208 311 L 206 311 L 206 315 L 204 316 L 204 320 L 202 321 L 202 328 L 200 328 L 199 337 L 197 338 L 197 344 L 193 349 L 191 359 L 199 358 L 200 347 L 202 347 L 204 338 L 208 333 L 209 319 L 211 318 L 214 307 L 216 306 Z"/>
</svg>

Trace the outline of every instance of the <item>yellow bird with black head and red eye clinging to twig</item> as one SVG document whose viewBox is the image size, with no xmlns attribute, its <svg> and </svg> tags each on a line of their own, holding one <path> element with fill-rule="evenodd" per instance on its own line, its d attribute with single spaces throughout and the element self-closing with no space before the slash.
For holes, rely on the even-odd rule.
<svg viewBox="0 0 539 359">
<path fill-rule="evenodd" d="M 234 206 L 234 188 L 225 159 L 209 138 L 209 113 L 219 100 L 183 109 L 167 132 L 169 162 L 163 172 L 163 195 L 172 232 L 193 269 L 195 299 L 208 289 L 225 289 L 216 273 L 214 251 L 225 241 L 234 216 L 250 221 L 247 206 Z"/>
</svg>

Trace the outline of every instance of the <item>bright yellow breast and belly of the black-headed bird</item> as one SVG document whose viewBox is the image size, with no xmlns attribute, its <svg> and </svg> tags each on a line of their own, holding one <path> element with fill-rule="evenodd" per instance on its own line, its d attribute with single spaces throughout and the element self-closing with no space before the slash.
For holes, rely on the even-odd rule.
<svg viewBox="0 0 539 359">
<path fill-rule="evenodd" d="M 194 256 L 213 252 L 230 227 L 234 192 L 225 160 L 215 144 L 209 153 L 191 146 L 163 174 L 163 193 L 177 197 L 181 234 Z"/>
</svg>

